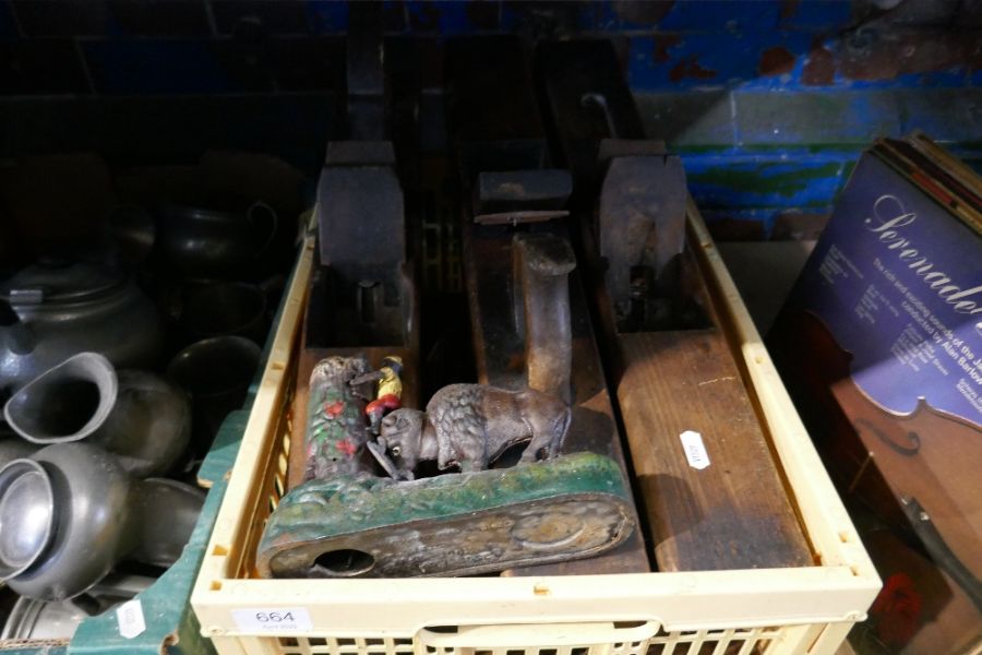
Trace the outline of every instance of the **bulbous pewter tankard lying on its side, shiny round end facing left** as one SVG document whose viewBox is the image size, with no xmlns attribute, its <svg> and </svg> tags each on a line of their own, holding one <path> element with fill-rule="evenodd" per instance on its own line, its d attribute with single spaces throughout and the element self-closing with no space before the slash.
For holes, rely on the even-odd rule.
<svg viewBox="0 0 982 655">
<path fill-rule="evenodd" d="M 0 469 L 0 577 L 22 596 L 64 600 L 128 557 L 170 565 L 203 501 L 175 480 L 131 478 L 96 445 L 49 445 Z"/>
</svg>

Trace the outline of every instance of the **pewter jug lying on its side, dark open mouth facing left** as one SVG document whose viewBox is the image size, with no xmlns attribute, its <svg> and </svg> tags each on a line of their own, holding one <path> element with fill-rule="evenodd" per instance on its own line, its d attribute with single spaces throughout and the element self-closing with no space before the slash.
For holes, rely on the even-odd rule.
<svg viewBox="0 0 982 655">
<path fill-rule="evenodd" d="M 170 471 L 191 439 L 190 400 L 181 389 L 148 371 L 117 371 L 97 353 L 69 357 L 22 386 L 3 416 L 33 443 L 87 438 L 136 477 Z"/>
</svg>

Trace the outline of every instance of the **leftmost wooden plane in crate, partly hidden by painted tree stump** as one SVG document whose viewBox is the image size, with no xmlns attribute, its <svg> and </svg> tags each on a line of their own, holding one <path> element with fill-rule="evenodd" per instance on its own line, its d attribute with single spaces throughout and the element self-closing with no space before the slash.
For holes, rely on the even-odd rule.
<svg viewBox="0 0 982 655">
<path fill-rule="evenodd" d="M 403 192 L 394 165 L 390 142 L 332 142 L 327 147 L 318 206 L 332 209 L 332 238 L 319 240 L 307 296 L 290 409 L 288 489 L 303 480 L 303 429 L 297 428 L 307 422 L 310 376 L 323 358 L 361 353 L 378 370 L 384 357 L 400 357 L 403 404 L 419 403 L 418 295 L 406 260 Z M 367 215 L 373 219 L 363 221 Z M 319 219 L 324 216 L 321 212 Z"/>
</svg>

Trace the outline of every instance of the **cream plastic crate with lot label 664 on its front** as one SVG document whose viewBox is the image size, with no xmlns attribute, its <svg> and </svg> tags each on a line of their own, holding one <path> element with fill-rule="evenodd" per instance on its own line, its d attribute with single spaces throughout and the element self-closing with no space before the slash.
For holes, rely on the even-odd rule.
<svg viewBox="0 0 982 655">
<path fill-rule="evenodd" d="M 687 218 L 815 565 L 543 577 L 259 579 L 256 543 L 286 479 L 288 407 L 313 261 L 309 238 L 191 597 L 218 652 L 834 653 L 865 618 L 879 579 L 691 202 Z"/>
</svg>

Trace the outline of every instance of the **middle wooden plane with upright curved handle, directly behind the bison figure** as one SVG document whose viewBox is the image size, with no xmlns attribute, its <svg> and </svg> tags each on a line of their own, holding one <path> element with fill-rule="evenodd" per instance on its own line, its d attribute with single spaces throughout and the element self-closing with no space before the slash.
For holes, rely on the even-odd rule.
<svg viewBox="0 0 982 655">
<path fill-rule="evenodd" d="M 564 451 L 607 457 L 630 479 L 563 221 L 572 179 L 548 168 L 546 131 L 520 39 L 452 39 L 445 69 L 453 158 L 464 189 L 463 260 L 478 379 L 563 397 L 573 410 Z M 649 558 L 636 528 L 603 555 L 505 575 L 646 571 Z"/>
</svg>

